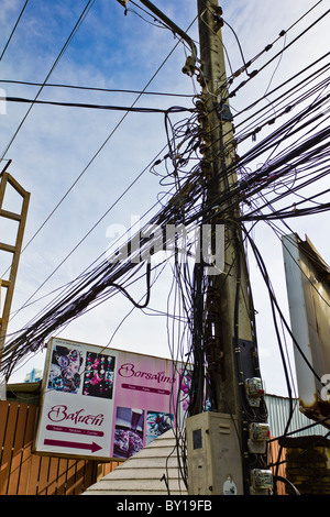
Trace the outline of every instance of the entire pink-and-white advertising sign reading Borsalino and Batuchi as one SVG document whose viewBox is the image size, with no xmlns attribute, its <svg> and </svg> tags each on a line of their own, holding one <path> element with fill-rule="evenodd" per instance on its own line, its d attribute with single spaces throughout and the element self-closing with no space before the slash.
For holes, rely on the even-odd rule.
<svg viewBox="0 0 330 517">
<path fill-rule="evenodd" d="M 53 338 L 35 452 L 128 459 L 180 424 L 188 387 L 170 360 Z"/>
</svg>

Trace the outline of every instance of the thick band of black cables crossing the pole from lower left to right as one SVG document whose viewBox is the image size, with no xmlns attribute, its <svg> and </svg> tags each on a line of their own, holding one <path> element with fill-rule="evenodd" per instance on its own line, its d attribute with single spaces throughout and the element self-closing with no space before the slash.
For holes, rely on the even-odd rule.
<svg viewBox="0 0 330 517">
<path fill-rule="evenodd" d="M 189 233 L 189 229 L 196 228 L 201 222 L 212 223 L 213 208 L 217 207 L 217 220 L 222 217 L 226 222 L 226 212 L 228 207 L 234 207 L 240 200 L 241 210 L 239 222 L 283 219 L 288 217 L 298 217 L 299 215 L 315 213 L 329 209 L 329 202 L 319 202 L 315 205 L 315 199 L 323 195 L 320 191 L 312 197 L 299 198 L 298 206 L 305 205 L 302 208 L 292 206 L 275 209 L 277 202 L 293 194 L 299 194 L 299 190 L 308 187 L 308 185 L 320 180 L 329 173 L 329 136 L 330 129 L 324 127 L 319 131 L 315 131 L 319 121 L 328 119 L 324 112 L 324 106 L 329 96 L 324 96 L 317 102 L 305 108 L 296 117 L 288 120 L 274 133 L 254 145 L 248 153 L 238 161 L 228 166 L 227 170 L 221 174 L 230 174 L 232 169 L 238 169 L 239 177 L 237 184 L 230 189 L 221 194 L 215 195 L 212 198 L 206 197 L 208 190 L 207 178 L 204 176 L 199 162 L 191 168 L 191 162 L 198 160 L 199 134 L 196 114 L 185 122 L 170 127 L 168 114 L 166 114 L 166 132 L 168 136 L 168 153 L 163 160 L 154 164 L 153 169 L 156 170 L 162 164 L 169 161 L 172 170 L 164 174 L 161 184 L 167 184 L 170 188 L 175 188 L 175 193 L 160 212 L 153 217 L 144 229 L 153 226 L 165 228 L 168 224 L 178 227 L 185 224 Z M 309 127 L 314 131 L 309 131 Z M 169 138 L 170 127 L 173 135 Z M 308 133 L 306 133 L 308 131 Z M 299 133 L 302 134 L 300 135 Z M 289 143 L 285 150 L 276 153 L 279 144 L 295 136 L 295 142 Z M 252 161 L 258 158 L 264 152 L 273 153 L 272 160 L 268 160 L 256 170 L 250 174 L 241 174 L 240 170 L 246 170 Z M 168 164 L 166 164 L 168 168 Z M 289 182 L 287 184 L 286 182 Z M 288 186 L 287 186 L 288 185 Z M 284 186 L 284 191 L 276 194 L 276 189 Z M 271 197 L 272 199 L 267 199 Z M 261 202 L 263 204 L 261 205 Z M 248 210 L 246 210 L 248 207 Z M 255 207 L 255 208 L 252 208 Z M 143 229 L 141 231 L 143 234 Z M 174 246 L 175 242 L 164 242 L 164 232 L 157 239 L 160 246 L 167 244 L 168 248 Z M 157 241 L 153 241 L 156 243 Z M 128 249 L 132 248 L 128 242 Z M 6 345 L 2 356 L 1 372 L 8 378 L 12 370 L 26 353 L 34 353 L 44 344 L 45 340 L 62 326 L 75 319 L 78 315 L 90 310 L 95 304 L 100 302 L 114 295 L 117 292 L 123 293 L 130 298 L 125 288 L 129 280 L 140 273 L 141 261 L 138 255 L 148 254 L 150 239 L 140 240 L 140 248 L 134 250 L 135 255 L 121 260 L 118 251 L 112 257 L 101 262 L 97 267 L 80 277 L 76 282 L 75 287 L 51 307 L 37 321 L 24 329 L 19 336 L 14 337 Z M 146 267 L 147 289 L 150 289 L 151 265 Z M 75 283 L 74 283 L 75 284 Z M 134 300 L 130 298 L 132 302 Z M 138 304 L 139 306 L 139 304 Z"/>
</svg>

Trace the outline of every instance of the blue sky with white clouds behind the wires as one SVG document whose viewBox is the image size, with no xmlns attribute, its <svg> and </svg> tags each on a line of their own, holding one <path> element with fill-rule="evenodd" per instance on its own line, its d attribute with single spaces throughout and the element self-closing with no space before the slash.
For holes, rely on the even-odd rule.
<svg viewBox="0 0 330 517">
<path fill-rule="evenodd" d="M 183 30 L 189 28 L 188 34 L 198 46 L 196 0 L 155 0 L 154 3 Z M 0 52 L 24 4 L 23 0 L 2 0 Z M 119 91 L 45 86 L 38 100 L 162 109 L 194 106 L 191 96 L 200 92 L 200 85 L 196 78 L 182 73 L 188 50 L 172 31 L 154 23 L 152 16 L 141 11 L 139 8 L 143 6 L 139 0 L 135 4 L 128 2 L 127 14 L 116 0 L 91 2 L 81 25 L 65 47 L 86 4 L 82 0 L 30 0 L 26 3 L 0 61 L 3 96 L 33 99 L 38 86 L 4 81 L 43 84 L 47 78 L 46 85 Z M 242 66 L 240 48 L 248 62 L 277 40 L 261 63 L 271 56 L 277 57 L 257 79 L 232 98 L 234 113 L 327 52 L 329 15 L 280 53 L 284 45 L 326 12 L 324 1 L 223 0 L 221 7 L 228 23 L 222 32 L 228 72 Z M 292 29 L 286 36 L 278 37 L 279 32 L 288 28 Z M 63 48 L 65 52 L 58 59 Z M 143 90 L 176 94 L 177 97 L 136 94 Z M 146 212 L 152 215 L 152 207 L 164 193 L 160 177 L 151 172 L 151 164 L 160 153 L 162 156 L 166 145 L 163 113 L 35 105 L 26 116 L 29 106 L 8 101 L 6 107 L 1 105 L 0 113 L 3 157 L 0 168 L 11 160 L 8 172 L 31 193 L 9 334 L 26 326 L 62 286 L 103 254 L 113 242 L 113 232 L 129 229 L 134 218 L 142 219 Z M 185 113 L 175 114 L 173 120 L 185 117 Z M 244 141 L 239 153 L 243 154 L 253 144 L 251 139 Z M 9 198 L 7 202 L 8 209 L 12 209 L 16 199 Z M 290 220 L 289 224 L 302 239 L 307 234 L 329 263 L 330 242 L 324 235 L 328 220 L 329 215 L 323 212 Z M 0 231 L 10 238 L 10 228 L 4 223 Z M 253 238 L 288 318 L 280 240 L 263 222 L 256 224 Z M 6 271 L 7 264 L 0 264 Z M 268 393 L 286 396 L 266 288 L 253 256 L 249 256 L 249 265 L 262 376 Z M 152 309 L 166 311 L 172 280 L 169 266 L 152 290 Z M 144 284 L 138 283 L 132 287 L 132 295 L 141 297 L 143 289 Z M 131 304 L 119 294 L 56 336 L 169 358 L 166 318 L 131 309 Z M 287 348 L 294 374 L 290 339 Z M 44 359 L 45 352 L 26 356 L 10 382 L 23 382 L 33 367 L 43 369 Z"/>
</svg>

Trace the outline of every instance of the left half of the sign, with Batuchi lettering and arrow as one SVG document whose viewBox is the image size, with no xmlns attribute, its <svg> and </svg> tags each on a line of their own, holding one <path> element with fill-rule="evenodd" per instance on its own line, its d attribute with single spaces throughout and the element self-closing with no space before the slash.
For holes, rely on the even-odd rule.
<svg viewBox="0 0 330 517">
<path fill-rule="evenodd" d="M 116 351 L 58 339 L 48 346 L 36 452 L 109 459 Z"/>
</svg>

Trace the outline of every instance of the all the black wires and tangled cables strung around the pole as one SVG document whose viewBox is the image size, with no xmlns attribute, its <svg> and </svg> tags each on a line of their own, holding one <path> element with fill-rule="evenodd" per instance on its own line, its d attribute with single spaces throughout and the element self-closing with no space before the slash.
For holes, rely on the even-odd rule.
<svg viewBox="0 0 330 517">
<path fill-rule="evenodd" d="M 305 15 L 309 14 L 319 3 L 317 2 Z M 89 1 L 86 9 L 89 9 L 91 4 L 92 2 Z M 265 69 L 268 70 L 268 66 L 274 59 L 280 59 L 300 37 L 304 37 L 328 14 L 329 10 L 301 30 L 290 43 L 286 43 L 286 35 L 294 26 L 301 23 L 305 19 L 305 15 L 302 15 L 288 30 L 280 31 L 275 41 L 268 43 L 251 59 L 245 58 L 238 36 L 224 21 L 224 24 L 235 35 L 243 65 L 238 70 L 231 70 L 230 77 L 223 85 L 220 85 L 217 95 L 210 92 L 209 96 L 197 95 L 193 99 L 193 107 L 189 108 L 178 106 L 168 109 L 135 108 L 134 105 L 145 90 L 139 94 L 131 108 L 40 100 L 38 95 L 46 86 L 53 68 L 66 50 L 66 45 L 63 47 L 44 84 L 35 84 L 41 86 L 41 89 L 34 100 L 8 96 L 8 101 L 28 102 L 31 108 L 34 105 L 51 103 L 56 105 L 58 109 L 119 110 L 133 113 L 132 116 L 136 112 L 144 113 L 145 117 L 150 113 L 162 114 L 164 116 L 167 143 L 162 152 L 163 155 L 161 156 L 161 153 L 158 153 L 147 167 L 150 173 L 160 178 L 162 189 L 157 201 L 152 207 L 152 209 L 156 207 L 156 215 L 150 217 L 143 228 L 131 239 L 128 239 L 124 245 L 118 249 L 113 246 L 110 253 L 107 252 L 106 257 L 102 255 L 76 279 L 61 289 L 56 298 L 37 314 L 32 321 L 26 323 L 25 328 L 8 337 L 9 339 L 1 354 L 0 376 L 8 381 L 18 365 L 25 361 L 29 354 L 38 352 L 52 334 L 114 295 L 121 294 L 127 297 L 132 304 L 132 310 L 139 309 L 147 315 L 156 314 L 150 307 L 151 292 L 157 282 L 158 272 L 167 265 L 167 262 L 165 258 L 163 262 L 155 264 L 152 256 L 157 250 L 166 250 L 170 251 L 170 255 L 174 257 L 174 263 L 170 265 L 173 283 L 168 289 L 168 310 L 162 316 L 166 318 L 167 322 L 166 330 L 172 359 L 184 363 L 186 371 L 189 373 L 189 386 L 187 387 L 189 404 L 185 408 L 186 415 L 216 407 L 217 394 L 215 393 L 212 371 L 209 367 L 210 356 L 206 324 L 206 312 L 209 309 L 209 307 L 206 307 L 206 294 L 210 288 L 207 274 L 209 264 L 206 264 L 202 257 L 196 254 L 196 229 L 199 229 L 202 224 L 215 228 L 216 224 L 221 223 L 234 229 L 232 235 L 235 239 L 237 246 L 242 244 L 238 240 L 238 234 L 242 234 L 243 244 L 246 249 L 249 246 L 249 250 L 253 253 L 267 287 L 276 338 L 290 396 L 290 414 L 285 429 L 285 433 L 287 433 L 294 414 L 294 406 L 289 367 L 286 363 L 276 318 L 279 318 L 280 323 L 287 330 L 289 330 L 289 326 L 279 309 L 266 265 L 251 233 L 252 229 L 262 222 L 268 224 L 277 237 L 288 230 L 294 233 L 288 226 L 289 220 L 327 212 L 330 209 L 330 94 L 328 92 L 330 86 L 330 65 L 328 63 L 330 53 L 320 55 L 310 64 L 305 64 L 306 66 L 301 70 L 273 89 L 271 89 L 272 75 L 264 95 L 261 95 L 254 101 L 250 101 L 241 110 L 233 110 L 234 113 L 231 113 L 233 132 L 230 129 L 229 134 L 226 133 L 227 130 L 224 131 L 224 125 L 222 125 L 223 109 L 228 107 L 229 100 L 234 103 L 235 97 L 240 95 L 246 85 L 258 80 L 261 74 Z M 85 11 L 81 13 L 72 37 L 84 15 Z M 204 22 L 202 14 L 201 22 Z M 283 38 L 284 47 L 282 51 L 276 52 L 276 44 Z M 67 44 L 69 42 L 70 38 Z M 262 56 L 265 56 L 272 50 L 275 51 L 273 57 L 261 65 L 260 68 L 250 72 L 251 65 L 257 63 Z M 202 82 L 202 68 L 197 66 L 196 72 L 199 74 L 199 82 Z M 241 74 L 245 74 L 246 78 L 243 81 L 239 79 L 240 82 L 237 85 Z M 193 82 L 195 79 L 196 77 L 191 75 Z M 64 85 L 53 86 L 65 87 Z M 211 130 L 206 132 L 200 123 L 201 113 L 206 119 L 209 117 L 206 106 L 210 106 L 210 100 L 218 113 L 221 130 L 221 141 L 213 141 L 213 146 L 206 145 L 206 142 L 215 139 Z M 184 112 L 187 113 L 185 119 L 173 122 L 173 117 L 177 119 Z M 94 158 L 103 148 L 113 132 Z M 12 145 L 16 133 L 9 143 L 7 151 Z M 252 142 L 251 146 L 250 141 Z M 216 148 L 217 151 L 215 151 Z M 242 148 L 245 148 L 245 151 L 239 154 Z M 223 156 L 231 157 L 224 162 Z M 94 158 L 76 182 L 79 180 Z M 213 176 L 211 176 L 208 166 L 213 163 L 221 163 L 221 166 L 216 174 L 213 168 Z M 141 175 L 142 173 L 138 178 Z M 221 191 L 213 188 L 213 185 L 219 184 L 228 176 L 234 177 L 230 185 L 227 185 Z M 134 185 L 134 182 L 132 185 Z M 108 208 L 106 215 L 114 205 Z M 177 231 L 180 228 L 185 229 L 184 249 L 177 232 L 167 232 L 168 227 L 173 227 Z M 197 250 L 199 250 L 198 246 Z M 239 251 L 242 250 L 239 249 Z M 182 253 L 187 255 L 187 261 L 182 260 Z M 240 254 L 238 254 L 237 261 L 239 261 L 239 257 Z M 242 264 L 237 263 L 235 266 L 240 271 Z M 141 279 L 145 280 L 145 289 L 140 299 L 136 300 L 130 294 L 130 288 Z M 220 283 L 224 284 L 226 280 L 227 276 L 224 274 L 220 275 Z M 246 300 L 246 304 L 250 307 L 250 304 L 253 306 L 251 286 L 249 286 L 249 296 L 251 296 L 251 299 Z M 233 316 L 234 318 L 239 317 L 237 305 L 235 315 Z M 252 321 L 251 324 L 253 332 L 255 332 L 254 322 Z M 238 336 L 235 334 L 234 338 L 238 339 Z M 296 345 L 299 350 L 299 343 L 296 343 Z M 174 393 L 172 394 L 170 404 L 173 413 L 176 413 L 178 400 Z M 245 411 L 251 410 L 248 405 L 244 405 L 244 400 L 242 406 Z M 258 419 L 262 421 L 266 408 L 262 405 L 253 411 L 252 418 L 255 421 L 258 421 Z M 179 460 L 179 468 L 182 477 L 186 483 L 185 436 L 179 429 L 176 429 L 175 432 L 177 448 L 180 449 L 179 458 L 183 459 Z M 277 466 L 278 462 L 279 457 Z"/>
</svg>

